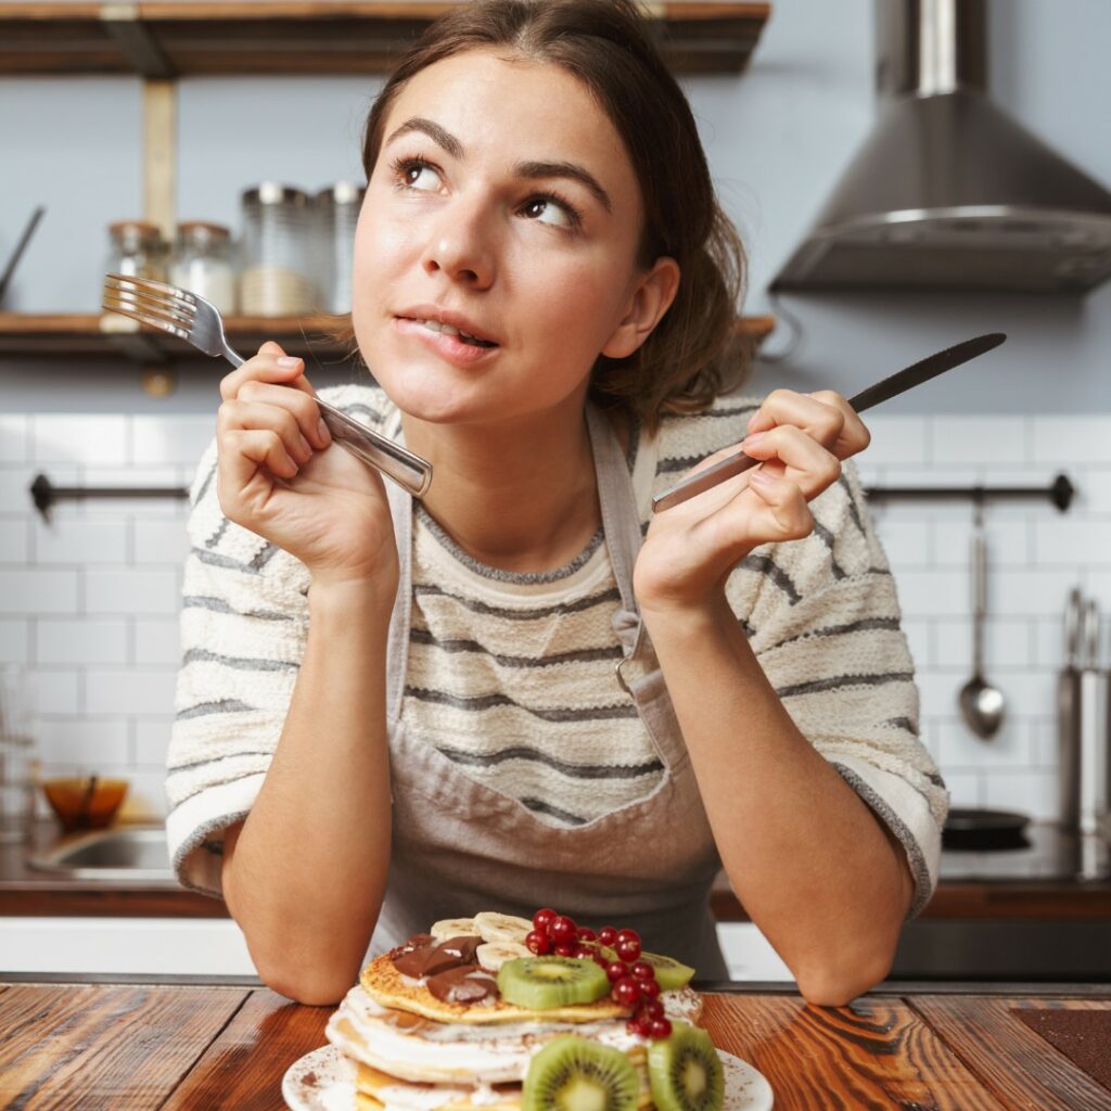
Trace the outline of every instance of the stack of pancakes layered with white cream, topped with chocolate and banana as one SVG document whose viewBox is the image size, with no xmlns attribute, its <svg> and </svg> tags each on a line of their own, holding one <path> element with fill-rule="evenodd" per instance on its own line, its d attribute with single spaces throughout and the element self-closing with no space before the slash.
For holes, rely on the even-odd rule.
<svg viewBox="0 0 1111 1111">
<path fill-rule="evenodd" d="M 608 994 L 544 1010 L 510 1003 L 497 990 L 497 961 L 476 958 L 489 948 L 482 940 L 418 934 L 363 969 L 327 1027 L 354 1065 L 359 1111 L 519 1111 L 532 1058 L 563 1034 L 622 1051 L 639 1081 L 638 1111 L 652 1107 L 649 1042 L 627 1030 L 631 1008 Z M 669 1018 L 698 1022 L 691 989 L 664 991 L 660 1002 Z"/>
</svg>

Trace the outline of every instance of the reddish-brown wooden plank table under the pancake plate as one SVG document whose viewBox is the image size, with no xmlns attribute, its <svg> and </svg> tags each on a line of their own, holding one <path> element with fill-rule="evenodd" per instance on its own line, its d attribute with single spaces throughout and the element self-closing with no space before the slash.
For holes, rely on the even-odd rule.
<svg viewBox="0 0 1111 1111">
<path fill-rule="evenodd" d="M 1092 1080 L 1011 1012 L 1102 1012 L 1111 988 L 900 985 L 838 1009 L 789 990 L 711 992 L 722 1049 L 771 1082 L 775 1111 L 1109 1111 Z M 324 1043 L 329 1008 L 264 988 L 0 983 L 0 1107 L 280 1109 L 281 1077 Z"/>
</svg>

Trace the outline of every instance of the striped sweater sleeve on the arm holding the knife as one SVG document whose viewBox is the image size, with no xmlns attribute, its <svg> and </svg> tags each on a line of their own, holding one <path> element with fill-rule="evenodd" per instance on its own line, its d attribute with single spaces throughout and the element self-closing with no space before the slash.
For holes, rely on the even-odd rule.
<svg viewBox="0 0 1111 1111">
<path fill-rule="evenodd" d="M 755 549 L 730 601 L 792 720 L 905 851 L 913 918 L 938 882 L 949 800 L 919 738 L 895 582 L 851 461 L 810 508 L 814 531 Z"/>
</svg>

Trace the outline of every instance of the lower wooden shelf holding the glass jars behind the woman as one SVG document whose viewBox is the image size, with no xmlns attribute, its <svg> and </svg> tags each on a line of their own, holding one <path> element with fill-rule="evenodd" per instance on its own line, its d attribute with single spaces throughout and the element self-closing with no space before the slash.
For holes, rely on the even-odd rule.
<svg viewBox="0 0 1111 1111">
<path fill-rule="evenodd" d="M 228 342 L 244 356 L 263 340 L 277 340 L 290 353 L 312 356 L 318 362 L 340 363 L 349 351 L 328 334 L 330 318 L 227 317 Z M 109 323 L 110 322 L 110 323 Z M 57 356 L 124 356 L 137 362 L 168 364 L 182 359 L 204 360 L 194 348 L 166 332 L 134 324 L 114 313 L 49 314 L 0 312 L 0 356 L 39 358 Z M 108 326 L 106 328 L 106 326 Z M 771 333 L 774 317 L 742 317 L 738 336 L 753 348 Z"/>
</svg>

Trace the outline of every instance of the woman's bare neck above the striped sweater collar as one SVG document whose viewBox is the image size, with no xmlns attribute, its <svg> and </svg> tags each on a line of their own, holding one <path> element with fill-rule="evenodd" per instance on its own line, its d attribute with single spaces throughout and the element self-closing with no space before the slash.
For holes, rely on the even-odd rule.
<svg viewBox="0 0 1111 1111">
<path fill-rule="evenodd" d="M 407 447 L 432 463 L 424 508 L 480 563 L 550 571 L 574 559 L 598 531 L 581 399 L 503 424 L 433 426 L 403 416 L 402 427 Z M 618 432 L 627 443 L 623 424 Z"/>
</svg>

